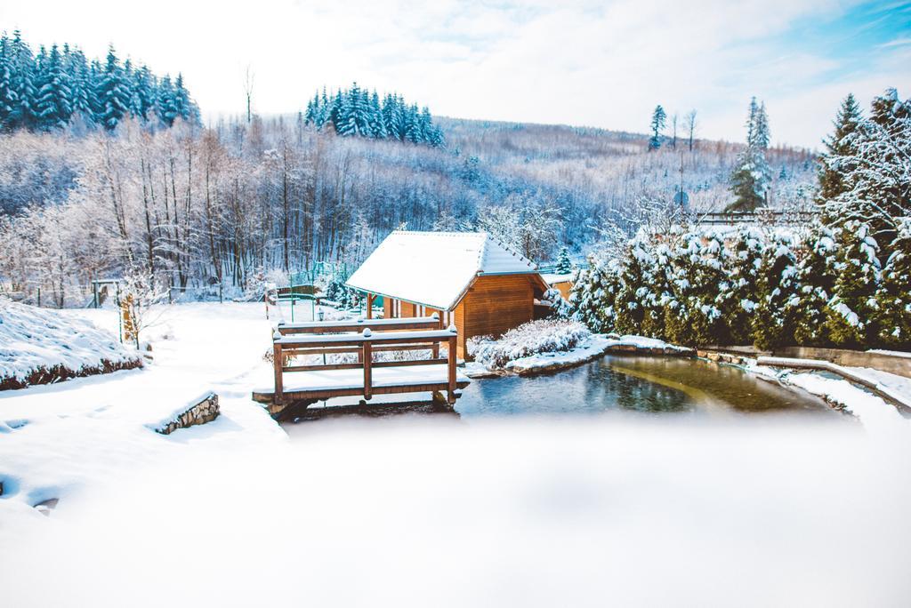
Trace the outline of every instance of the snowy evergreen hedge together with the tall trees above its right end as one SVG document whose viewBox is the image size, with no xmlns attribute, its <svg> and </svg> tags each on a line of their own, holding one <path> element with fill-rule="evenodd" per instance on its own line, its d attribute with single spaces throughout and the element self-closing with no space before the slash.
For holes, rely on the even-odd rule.
<svg viewBox="0 0 911 608">
<path fill-rule="evenodd" d="M 590 258 L 572 314 L 688 345 L 911 347 L 911 102 L 848 96 L 834 127 L 814 224 L 642 228 Z"/>
</svg>

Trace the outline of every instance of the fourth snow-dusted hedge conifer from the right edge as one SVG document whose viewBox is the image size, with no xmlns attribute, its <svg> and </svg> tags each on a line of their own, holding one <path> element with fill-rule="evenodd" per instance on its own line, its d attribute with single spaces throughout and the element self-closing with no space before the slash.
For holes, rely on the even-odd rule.
<svg viewBox="0 0 911 608">
<path fill-rule="evenodd" d="M 752 318 L 756 348 L 771 350 L 793 341 L 793 312 L 800 292 L 796 279 L 792 235 L 770 235 L 760 258 L 756 282 L 756 309 Z"/>
</svg>

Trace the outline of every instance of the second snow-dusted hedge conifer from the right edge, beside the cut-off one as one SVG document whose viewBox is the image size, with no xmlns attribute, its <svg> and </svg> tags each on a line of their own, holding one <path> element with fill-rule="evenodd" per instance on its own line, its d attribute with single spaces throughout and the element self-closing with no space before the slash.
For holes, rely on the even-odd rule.
<svg viewBox="0 0 911 608">
<path fill-rule="evenodd" d="M 836 235 L 834 297 L 825 308 L 825 330 L 835 346 L 861 348 L 877 338 L 876 293 L 881 274 L 878 246 L 866 224 L 851 220 Z"/>
</svg>

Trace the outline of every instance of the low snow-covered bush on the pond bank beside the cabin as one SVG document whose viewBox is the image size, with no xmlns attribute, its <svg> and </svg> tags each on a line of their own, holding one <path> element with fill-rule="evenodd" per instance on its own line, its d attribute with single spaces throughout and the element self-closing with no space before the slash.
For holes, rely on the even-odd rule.
<svg viewBox="0 0 911 608">
<path fill-rule="evenodd" d="M 468 354 L 488 369 L 503 368 L 511 360 L 542 352 L 575 349 L 591 332 L 578 321 L 541 319 L 510 329 L 500 339 L 476 337 L 468 341 Z"/>
</svg>

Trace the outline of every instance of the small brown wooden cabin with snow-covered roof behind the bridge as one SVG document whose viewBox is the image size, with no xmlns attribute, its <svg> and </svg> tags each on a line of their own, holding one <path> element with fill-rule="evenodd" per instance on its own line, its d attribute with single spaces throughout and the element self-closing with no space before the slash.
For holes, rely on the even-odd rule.
<svg viewBox="0 0 911 608">
<path fill-rule="evenodd" d="M 367 294 L 367 310 L 383 297 L 385 319 L 441 316 L 467 340 L 499 336 L 535 318 L 535 300 L 548 289 L 537 266 L 486 232 L 396 230 L 348 279 Z"/>
</svg>

